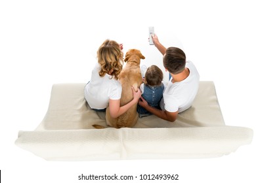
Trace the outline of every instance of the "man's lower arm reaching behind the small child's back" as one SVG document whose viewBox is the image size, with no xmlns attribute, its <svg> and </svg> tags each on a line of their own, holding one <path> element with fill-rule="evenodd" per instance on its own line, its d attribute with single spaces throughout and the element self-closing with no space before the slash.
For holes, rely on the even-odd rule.
<svg viewBox="0 0 256 183">
<path fill-rule="evenodd" d="M 174 122 L 177 119 L 178 111 L 177 112 L 168 112 L 163 111 L 158 108 L 151 107 L 148 105 L 148 103 L 143 99 L 143 97 L 140 97 L 141 100 L 139 100 L 139 105 L 141 107 L 144 107 L 148 112 L 151 112 L 152 114 L 158 116 L 159 118 L 163 120 L 167 120 L 169 122 Z"/>
</svg>

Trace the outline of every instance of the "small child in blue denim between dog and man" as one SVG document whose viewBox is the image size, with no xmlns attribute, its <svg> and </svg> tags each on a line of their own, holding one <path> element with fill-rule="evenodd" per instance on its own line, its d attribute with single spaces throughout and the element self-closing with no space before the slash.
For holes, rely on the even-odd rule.
<svg viewBox="0 0 256 183">
<path fill-rule="evenodd" d="M 142 91 L 142 97 L 148 102 L 148 105 L 160 109 L 160 101 L 163 97 L 163 72 L 156 65 L 151 65 L 146 70 L 144 76 L 144 83 L 140 85 Z M 139 117 L 149 116 L 152 113 L 148 112 L 145 108 L 140 105 L 137 106 Z"/>
</svg>

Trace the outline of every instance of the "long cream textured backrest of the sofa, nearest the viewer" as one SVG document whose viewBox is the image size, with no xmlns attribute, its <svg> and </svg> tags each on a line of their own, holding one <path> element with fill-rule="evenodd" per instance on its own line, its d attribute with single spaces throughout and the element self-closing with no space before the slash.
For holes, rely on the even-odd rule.
<svg viewBox="0 0 256 183">
<path fill-rule="evenodd" d="M 20 131 L 16 144 L 48 160 L 211 158 L 251 142 L 245 127 Z"/>
</svg>

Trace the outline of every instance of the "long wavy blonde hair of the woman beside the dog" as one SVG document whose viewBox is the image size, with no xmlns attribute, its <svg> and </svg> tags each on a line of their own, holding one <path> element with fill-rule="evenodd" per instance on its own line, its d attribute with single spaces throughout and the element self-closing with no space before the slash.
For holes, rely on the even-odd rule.
<svg viewBox="0 0 256 183">
<path fill-rule="evenodd" d="M 106 75 L 106 73 L 112 72 L 111 75 L 115 76 L 116 80 L 123 67 L 123 52 L 120 49 L 119 44 L 116 41 L 110 41 L 107 39 L 102 43 L 97 52 L 98 63 L 100 64 L 100 76 Z"/>
</svg>

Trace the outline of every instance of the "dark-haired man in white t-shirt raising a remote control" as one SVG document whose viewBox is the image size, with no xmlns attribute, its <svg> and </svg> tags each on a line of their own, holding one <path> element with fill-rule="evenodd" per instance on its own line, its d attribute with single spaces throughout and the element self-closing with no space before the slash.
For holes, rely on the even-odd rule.
<svg viewBox="0 0 256 183">
<path fill-rule="evenodd" d="M 191 61 L 186 61 L 186 55 L 180 48 L 165 48 L 157 35 L 152 36 L 154 45 L 163 54 L 163 66 L 171 74 L 165 90 L 160 107 L 150 107 L 148 103 L 140 97 L 139 105 L 155 114 L 163 120 L 174 122 L 179 112 L 191 107 L 199 86 L 199 74 L 195 65 Z"/>
</svg>

